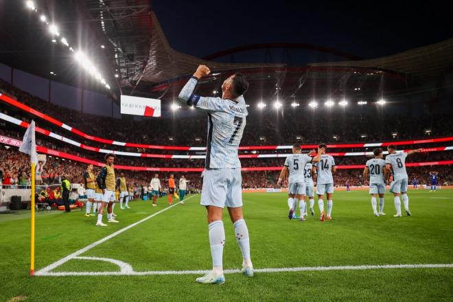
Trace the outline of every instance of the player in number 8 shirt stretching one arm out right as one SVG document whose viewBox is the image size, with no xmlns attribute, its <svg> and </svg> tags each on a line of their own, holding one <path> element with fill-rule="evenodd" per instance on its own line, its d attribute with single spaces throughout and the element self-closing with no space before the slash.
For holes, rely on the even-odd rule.
<svg viewBox="0 0 453 302">
<path fill-rule="evenodd" d="M 423 149 L 409 150 L 408 152 L 396 152 L 395 145 L 388 145 L 388 155 L 385 158 L 386 175 L 385 178 L 393 173 L 393 181 L 390 184 L 390 191 L 393 193 L 395 209 L 397 213 L 393 217 L 401 217 L 401 200 L 399 194 L 402 194 L 404 209 L 410 216 L 408 191 L 408 174 L 406 172 L 406 157 L 415 152 L 421 152 Z"/>
</svg>

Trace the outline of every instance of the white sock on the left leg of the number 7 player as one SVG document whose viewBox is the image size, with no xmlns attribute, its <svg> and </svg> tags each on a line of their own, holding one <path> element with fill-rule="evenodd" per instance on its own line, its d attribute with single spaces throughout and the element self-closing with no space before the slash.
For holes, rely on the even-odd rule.
<svg viewBox="0 0 453 302">
<path fill-rule="evenodd" d="M 216 275 L 220 275 L 223 272 L 223 246 L 225 245 L 225 230 L 222 220 L 209 224 L 209 245 L 211 246 L 212 270 Z"/>
</svg>

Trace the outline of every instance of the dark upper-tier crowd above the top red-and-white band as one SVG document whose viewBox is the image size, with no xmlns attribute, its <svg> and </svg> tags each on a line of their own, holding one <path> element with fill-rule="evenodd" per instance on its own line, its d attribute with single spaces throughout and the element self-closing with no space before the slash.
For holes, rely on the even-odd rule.
<svg viewBox="0 0 453 302">
<path fill-rule="evenodd" d="M 182 115 L 177 116 L 179 113 L 174 113 L 175 117 L 143 121 L 134 121 L 130 116 L 115 119 L 62 108 L 16 89 L 1 80 L 0 91 L 89 135 L 97 135 L 116 141 L 156 145 L 203 146 L 206 143 L 207 127 L 200 126 L 207 123 L 204 114 L 193 112 L 193 114 L 185 114 L 186 116 L 183 117 Z M 1 111 L 18 112 L 14 107 L 7 106 L 4 103 L 1 104 L 0 108 L 4 108 Z M 331 115 L 307 114 L 304 111 L 305 109 L 300 110 L 301 112 L 298 114 L 287 111 L 283 118 L 273 111 L 257 111 L 250 108 L 242 146 L 288 144 L 294 143 L 297 137 L 299 137 L 298 142 L 301 143 L 332 142 L 334 140 L 333 135 L 336 135 L 341 142 L 416 139 L 426 135 L 425 130 L 428 128 L 431 131 L 430 135 L 441 137 L 451 135 L 453 128 L 453 120 L 448 113 L 420 115 L 410 118 L 406 114 L 382 114 L 376 118 L 377 113 L 374 115 L 335 115 L 332 118 Z M 25 111 L 18 113 L 20 114 L 16 117 L 20 119 L 30 120 L 33 117 L 27 115 Z M 37 117 L 33 118 L 38 125 L 49 128 L 50 124 L 47 122 Z M 56 127 L 54 126 L 54 128 Z M 58 133 L 59 131 L 54 128 L 48 130 Z M 137 131 L 137 129 L 143 129 L 143 131 Z M 393 132 L 397 132 L 396 137 L 392 137 Z M 68 132 L 61 134 L 67 136 Z M 367 135 L 367 137 L 362 138 L 360 135 Z M 172 137 L 172 140 L 169 137 Z M 201 139 L 201 141 L 195 141 L 196 138 Z M 77 137 L 77 140 L 87 143 L 82 140 L 82 137 Z M 87 144 L 93 145 L 95 142 L 91 141 Z M 115 146 L 108 147 L 115 148 Z"/>
</svg>

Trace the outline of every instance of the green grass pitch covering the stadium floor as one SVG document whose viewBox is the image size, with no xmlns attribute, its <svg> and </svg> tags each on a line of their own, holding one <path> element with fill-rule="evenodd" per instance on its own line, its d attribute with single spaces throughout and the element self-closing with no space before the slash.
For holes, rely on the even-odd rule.
<svg viewBox="0 0 453 302">
<path fill-rule="evenodd" d="M 189 196 L 191 197 L 191 196 Z M 244 218 L 255 268 L 453 264 L 453 190 L 409 191 L 413 216 L 393 218 L 386 194 L 374 217 L 367 191 L 334 194 L 333 220 L 288 220 L 286 194 L 244 194 Z M 211 254 L 200 196 L 137 224 L 82 253 L 126 262 L 135 272 L 208 270 Z M 130 202 L 119 224 L 95 227 L 82 212 L 36 213 L 36 270 L 167 207 Z M 327 209 L 327 207 L 326 207 Z M 403 211 L 404 213 L 404 211 Z M 224 269 L 242 256 L 225 210 Z M 392 268 L 225 275 L 221 286 L 192 275 L 29 276 L 30 214 L 0 215 L 0 301 L 452 301 L 453 268 Z M 105 220 L 105 218 L 104 218 Z M 111 272 L 110 262 L 71 259 L 51 272 Z M 23 300 L 21 300 L 23 299 Z"/>
</svg>

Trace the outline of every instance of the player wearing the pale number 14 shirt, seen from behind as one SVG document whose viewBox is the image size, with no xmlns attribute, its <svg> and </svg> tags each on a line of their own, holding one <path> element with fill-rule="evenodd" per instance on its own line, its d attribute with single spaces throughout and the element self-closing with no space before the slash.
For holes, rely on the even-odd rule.
<svg viewBox="0 0 453 302">
<path fill-rule="evenodd" d="M 313 164 L 312 172 L 316 170 L 317 181 L 316 181 L 316 194 L 318 195 L 318 206 L 321 212 L 321 221 L 324 221 L 324 194 L 327 194 L 327 220 L 332 219 L 332 207 L 334 202 L 332 200 L 332 194 L 334 193 L 334 176 L 335 173 L 335 161 L 332 156 L 325 154 L 327 146 L 325 143 L 321 143 L 318 148 L 323 150 L 321 159 L 318 163 Z"/>
</svg>

